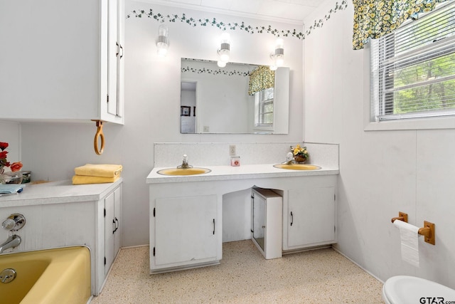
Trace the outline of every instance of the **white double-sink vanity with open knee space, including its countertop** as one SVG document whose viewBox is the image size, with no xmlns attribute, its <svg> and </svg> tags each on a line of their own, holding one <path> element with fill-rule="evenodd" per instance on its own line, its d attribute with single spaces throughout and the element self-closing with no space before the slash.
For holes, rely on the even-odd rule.
<svg viewBox="0 0 455 304">
<path fill-rule="evenodd" d="M 282 194 L 282 251 L 336 243 L 338 167 L 297 171 L 273 164 L 208 166 L 193 176 L 166 176 L 154 168 L 150 196 L 150 273 L 220 263 L 223 194 L 259 187 Z"/>
</svg>

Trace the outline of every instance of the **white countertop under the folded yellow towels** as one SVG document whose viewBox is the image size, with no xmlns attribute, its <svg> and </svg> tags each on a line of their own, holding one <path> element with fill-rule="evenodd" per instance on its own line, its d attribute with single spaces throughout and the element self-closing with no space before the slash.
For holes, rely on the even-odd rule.
<svg viewBox="0 0 455 304">
<path fill-rule="evenodd" d="M 122 178 L 119 178 L 116 182 L 106 184 L 73 185 L 70 180 L 45 182 L 43 184 L 23 184 L 25 187 L 21 193 L 0 196 L 0 208 L 99 201 L 121 182 Z"/>
</svg>

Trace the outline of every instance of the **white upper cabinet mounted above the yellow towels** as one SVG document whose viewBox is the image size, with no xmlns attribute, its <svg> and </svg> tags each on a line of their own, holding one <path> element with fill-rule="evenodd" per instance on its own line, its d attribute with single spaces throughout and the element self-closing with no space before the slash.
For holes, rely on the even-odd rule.
<svg viewBox="0 0 455 304">
<path fill-rule="evenodd" d="M 124 123 L 124 0 L 0 3 L 0 119 Z"/>
</svg>

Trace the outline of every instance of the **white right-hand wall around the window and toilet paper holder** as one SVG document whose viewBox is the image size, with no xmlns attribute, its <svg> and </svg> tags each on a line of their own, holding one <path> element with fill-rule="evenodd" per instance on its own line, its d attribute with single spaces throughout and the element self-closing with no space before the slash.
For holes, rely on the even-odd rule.
<svg viewBox="0 0 455 304">
<path fill-rule="evenodd" d="M 352 50 L 352 26 L 349 1 L 304 41 L 304 140 L 340 144 L 337 248 L 381 280 L 407 274 L 455 288 L 455 130 L 363 130 L 368 53 Z M 419 238 L 419 268 L 401 259 L 390 222 L 398 211 L 415 226 L 436 224 L 435 246 Z"/>
</svg>

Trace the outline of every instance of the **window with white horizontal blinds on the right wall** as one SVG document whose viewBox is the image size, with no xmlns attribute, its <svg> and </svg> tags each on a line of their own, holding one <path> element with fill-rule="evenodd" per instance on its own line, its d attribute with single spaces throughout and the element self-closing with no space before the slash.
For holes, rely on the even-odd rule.
<svg viewBox="0 0 455 304">
<path fill-rule="evenodd" d="M 372 41 L 373 120 L 455 115 L 455 4 Z"/>
</svg>

